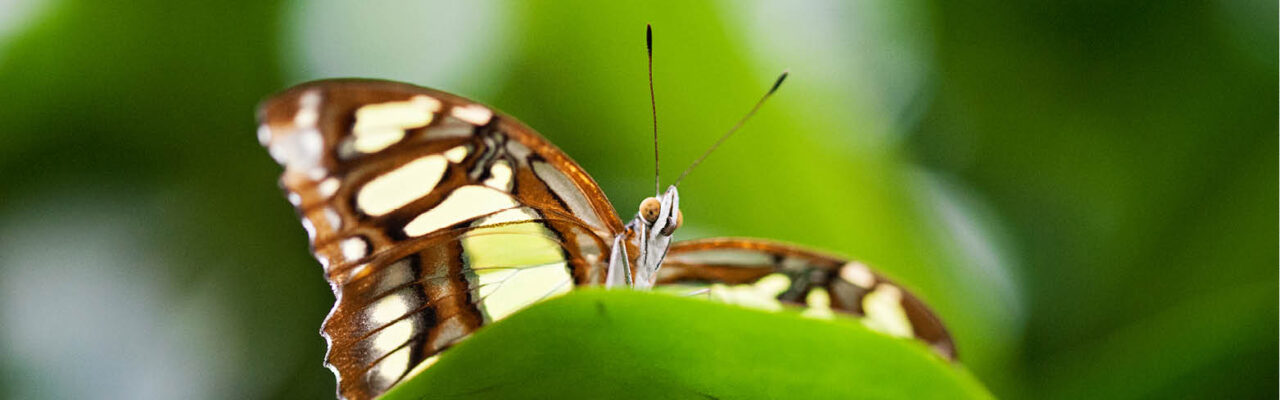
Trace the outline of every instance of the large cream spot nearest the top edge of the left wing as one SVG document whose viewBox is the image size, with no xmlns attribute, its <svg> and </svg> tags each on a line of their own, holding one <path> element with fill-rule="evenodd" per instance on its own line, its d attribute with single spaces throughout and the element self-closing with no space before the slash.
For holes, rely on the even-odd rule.
<svg viewBox="0 0 1280 400">
<path fill-rule="evenodd" d="M 376 153 L 404 138 L 406 129 L 431 123 L 440 110 L 440 101 L 419 95 L 406 101 L 370 104 L 356 110 L 352 147 L 360 153 Z"/>
</svg>

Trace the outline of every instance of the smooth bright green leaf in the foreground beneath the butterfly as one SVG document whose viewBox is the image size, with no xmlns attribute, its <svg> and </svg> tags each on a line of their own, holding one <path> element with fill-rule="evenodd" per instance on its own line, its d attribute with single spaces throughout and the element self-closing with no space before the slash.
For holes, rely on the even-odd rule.
<svg viewBox="0 0 1280 400">
<path fill-rule="evenodd" d="M 989 399 L 854 319 L 577 291 L 480 329 L 384 399 Z"/>
</svg>

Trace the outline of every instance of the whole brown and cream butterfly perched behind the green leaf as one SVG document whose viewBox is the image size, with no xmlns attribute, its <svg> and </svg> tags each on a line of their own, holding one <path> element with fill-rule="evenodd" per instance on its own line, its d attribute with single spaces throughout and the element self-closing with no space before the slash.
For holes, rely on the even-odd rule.
<svg viewBox="0 0 1280 400">
<path fill-rule="evenodd" d="M 937 315 L 867 265 L 754 238 L 672 242 L 676 185 L 623 224 L 568 155 L 468 99 L 326 79 L 270 97 L 257 117 L 337 297 L 321 336 L 339 397 L 375 397 L 483 326 L 577 286 L 838 310 L 955 358 Z"/>
</svg>

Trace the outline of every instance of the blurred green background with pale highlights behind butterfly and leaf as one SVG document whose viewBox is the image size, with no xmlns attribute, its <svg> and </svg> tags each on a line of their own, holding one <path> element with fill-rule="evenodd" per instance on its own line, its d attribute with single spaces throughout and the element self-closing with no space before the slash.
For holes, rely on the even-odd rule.
<svg viewBox="0 0 1280 400">
<path fill-rule="evenodd" d="M 488 103 L 623 215 L 856 256 L 1002 397 L 1270 397 L 1276 3 L 0 1 L 0 396 L 330 397 L 332 305 L 257 101 Z"/>
</svg>

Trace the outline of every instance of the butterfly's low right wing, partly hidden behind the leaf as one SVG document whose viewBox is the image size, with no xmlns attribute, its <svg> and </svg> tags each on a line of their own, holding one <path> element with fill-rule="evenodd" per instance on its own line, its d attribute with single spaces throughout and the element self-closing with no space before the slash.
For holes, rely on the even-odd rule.
<svg viewBox="0 0 1280 400">
<path fill-rule="evenodd" d="M 947 359 L 955 344 L 942 321 L 918 297 L 865 264 L 756 238 L 676 242 L 658 271 L 658 285 L 710 286 L 728 303 L 776 308 L 806 305 L 806 313 L 837 310 L 895 336 L 915 337 Z"/>
</svg>

